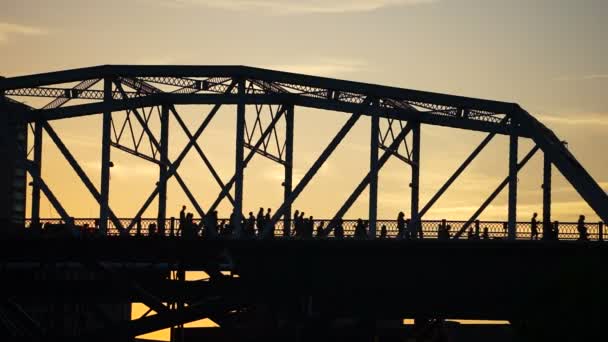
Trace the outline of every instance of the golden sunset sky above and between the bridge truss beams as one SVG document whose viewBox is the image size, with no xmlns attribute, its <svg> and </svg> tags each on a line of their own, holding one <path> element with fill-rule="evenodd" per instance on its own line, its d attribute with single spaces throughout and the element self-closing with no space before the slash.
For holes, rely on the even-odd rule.
<svg viewBox="0 0 608 342">
<path fill-rule="evenodd" d="M 568 141 L 582 165 L 608 189 L 606 15 L 608 3 L 601 0 L 4 0 L 0 74 L 98 64 L 241 64 L 517 102 Z M 178 109 L 192 130 L 205 111 Z M 234 167 L 234 108 L 220 114 L 201 145 L 227 180 Z M 346 117 L 296 109 L 296 182 Z M 53 125 L 99 184 L 100 117 Z M 368 168 L 368 132 L 364 118 L 294 209 L 329 217 L 339 208 Z M 423 127 L 422 205 L 483 136 Z M 43 175 L 68 212 L 98 215 L 92 197 L 46 141 Z M 171 142 L 170 157 L 176 157 L 185 136 L 172 133 Z M 468 218 L 506 176 L 507 144 L 503 137 L 495 139 L 427 217 Z M 520 158 L 530 147 L 521 144 Z M 130 217 L 152 191 L 158 170 L 120 151 L 112 153 L 111 206 L 119 216 Z M 218 188 L 202 163 L 192 154 L 180 170 L 208 207 Z M 245 209 L 276 208 L 281 176 L 278 165 L 255 157 L 246 170 Z M 396 160 L 381 171 L 379 217 L 409 212 L 409 177 L 406 165 Z M 561 176 L 555 178 L 555 218 L 572 221 L 585 213 L 595 220 Z M 529 220 L 542 210 L 540 154 L 519 179 L 518 218 Z M 482 219 L 504 219 L 506 200 L 505 191 Z M 227 203 L 220 207 L 224 216 Z M 188 201 L 170 182 L 169 216 L 177 215 L 181 204 Z M 49 215 L 56 214 L 43 202 L 42 216 Z M 154 217 L 154 210 L 146 216 Z M 366 194 L 347 216 L 367 216 Z"/>
</svg>

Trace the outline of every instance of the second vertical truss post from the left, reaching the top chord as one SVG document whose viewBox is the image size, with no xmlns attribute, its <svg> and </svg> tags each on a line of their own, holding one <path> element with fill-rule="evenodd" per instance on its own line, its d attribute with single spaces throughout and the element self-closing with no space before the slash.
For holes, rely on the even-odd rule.
<svg viewBox="0 0 608 342">
<path fill-rule="evenodd" d="M 112 79 L 103 80 L 103 100 L 106 104 L 112 101 Z M 101 131 L 101 188 L 99 203 L 99 230 L 103 235 L 108 232 L 109 195 L 110 195 L 110 142 L 112 112 L 103 113 Z"/>
</svg>

